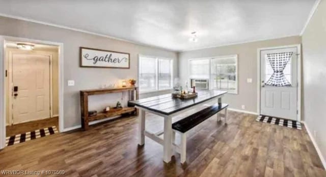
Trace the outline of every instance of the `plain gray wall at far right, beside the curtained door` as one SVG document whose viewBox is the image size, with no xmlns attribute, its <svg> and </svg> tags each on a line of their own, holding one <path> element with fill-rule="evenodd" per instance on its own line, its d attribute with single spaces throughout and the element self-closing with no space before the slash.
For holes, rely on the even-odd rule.
<svg viewBox="0 0 326 177">
<path fill-rule="evenodd" d="M 321 0 L 303 36 L 304 120 L 326 159 L 326 1 Z"/>
</svg>

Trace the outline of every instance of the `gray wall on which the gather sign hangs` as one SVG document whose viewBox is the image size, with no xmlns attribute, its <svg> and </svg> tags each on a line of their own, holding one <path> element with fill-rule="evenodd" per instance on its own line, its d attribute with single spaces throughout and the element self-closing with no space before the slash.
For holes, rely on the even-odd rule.
<svg viewBox="0 0 326 177">
<path fill-rule="evenodd" d="M 172 58 L 174 73 L 178 73 L 177 54 L 168 50 L 1 16 L 0 27 L 0 35 L 64 43 L 65 128 L 80 125 L 79 90 L 99 88 L 100 85 L 116 83 L 123 79 L 137 79 L 139 54 Z M 81 68 L 80 46 L 130 53 L 130 69 Z M 68 80 L 74 80 L 75 86 L 68 87 Z M 121 99 L 126 102 L 125 95 L 122 94 L 92 96 L 90 108 L 101 110 L 104 106 L 114 105 Z"/>
</svg>

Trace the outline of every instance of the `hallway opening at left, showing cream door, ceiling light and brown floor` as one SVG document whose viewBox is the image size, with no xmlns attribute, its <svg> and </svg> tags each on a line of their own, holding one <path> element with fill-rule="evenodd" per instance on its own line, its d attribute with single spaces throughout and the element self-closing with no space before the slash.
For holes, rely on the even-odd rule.
<svg viewBox="0 0 326 177">
<path fill-rule="evenodd" d="M 48 127 L 57 129 L 59 47 L 16 41 L 6 41 L 5 46 L 7 141 Z"/>
</svg>

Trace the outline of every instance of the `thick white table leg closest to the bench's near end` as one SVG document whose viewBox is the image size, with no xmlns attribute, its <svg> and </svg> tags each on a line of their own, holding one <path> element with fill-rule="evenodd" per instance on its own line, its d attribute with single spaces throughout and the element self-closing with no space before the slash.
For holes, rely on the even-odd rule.
<svg viewBox="0 0 326 177">
<path fill-rule="evenodd" d="M 171 161 L 172 156 L 172 117 L 164 118 L 164 157 L 166 163 Z"/>
</svg>

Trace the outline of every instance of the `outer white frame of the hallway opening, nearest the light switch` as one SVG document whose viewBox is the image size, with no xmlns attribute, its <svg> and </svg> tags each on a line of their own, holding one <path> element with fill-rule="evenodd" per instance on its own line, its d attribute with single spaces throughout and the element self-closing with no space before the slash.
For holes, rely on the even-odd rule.
<svg viewBox="0 0 326 177">
<path fill-rule="evenodd" d="M 0 36 L 0 149 L 6 146 L 6 94 L 8 90 L 5 89 L 5 43 L 6 41 L 17 41 L 17 42 L 31 42 L 40 43 L 47 45 L 56 45 L 59 47 L 59 131 L 64 131 L 64 101 L 63 101 L 63 88 L 64 88 L 64 73 L 63 73 L 63 43 L 34 40 L 27 38 L 11 37 L 11 36 Z M 2 117 L 2 118 L 1 118 Z M 1 120 L 2 119 L 2 120 Z"/>
</svg>

